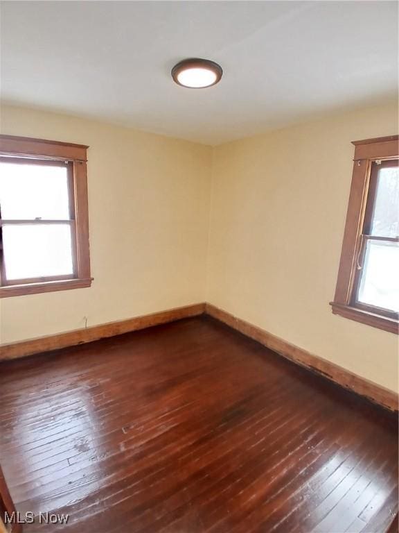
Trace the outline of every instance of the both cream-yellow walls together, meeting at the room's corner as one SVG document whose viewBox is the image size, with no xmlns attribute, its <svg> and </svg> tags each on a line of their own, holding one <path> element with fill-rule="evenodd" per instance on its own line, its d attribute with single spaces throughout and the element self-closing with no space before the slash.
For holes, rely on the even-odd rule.
<svg viewBox="0 0 399 533">
<path fill-rule="evenodd" d="M 212 150 L 3 108 L 1 133 L 91 146 L 95 279 L 89 289 L 1 300 L 1 343 L 82 328 L 84 316 L 94 325 L 207 300 L 397 390 L 398 337 L 332 315 L 328 305 L 351 140 L 397 133 L 397 116 L 394 105 L 370 108 Z"/>
</svg>

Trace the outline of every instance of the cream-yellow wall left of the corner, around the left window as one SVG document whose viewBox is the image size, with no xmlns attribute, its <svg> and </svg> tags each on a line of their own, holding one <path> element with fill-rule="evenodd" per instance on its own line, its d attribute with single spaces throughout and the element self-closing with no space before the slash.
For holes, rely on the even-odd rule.
<svg viewBox="0 0 399 533">
<path fill-rule="evenodd" d="M 89 144 L 88 289 L 0 301 L 2 344 L 202 302 L 211 148 L 22 108 L 1 133 Z"/>
</svg>

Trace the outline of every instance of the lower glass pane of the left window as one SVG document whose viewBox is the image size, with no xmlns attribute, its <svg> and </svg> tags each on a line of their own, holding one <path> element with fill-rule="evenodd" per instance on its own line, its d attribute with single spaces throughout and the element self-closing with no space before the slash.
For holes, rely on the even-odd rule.
<svg viewBox="0 0 399 533">
<path fill-rule="evenodd" d="M 8 280 L 73 273 L 69 224 L 3 226 Z"/>
</svg>

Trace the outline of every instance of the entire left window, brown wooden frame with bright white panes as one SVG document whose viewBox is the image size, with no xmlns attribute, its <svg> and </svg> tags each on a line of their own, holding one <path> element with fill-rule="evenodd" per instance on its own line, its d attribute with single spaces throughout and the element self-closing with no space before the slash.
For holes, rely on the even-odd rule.
<svg viewBox="0 0 399 533">
<path fill-rule="evenodd" d="M 91 285 L 87 146 L 0 135 L 0 296 Z"/>
</svg>

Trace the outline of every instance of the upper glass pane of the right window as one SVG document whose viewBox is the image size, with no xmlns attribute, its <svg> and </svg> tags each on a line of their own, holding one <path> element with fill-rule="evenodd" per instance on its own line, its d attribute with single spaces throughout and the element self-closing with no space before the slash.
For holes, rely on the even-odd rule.
<svg viewBox="0 0 399 533">
<path fill-rule="evenodd" d="M 399 168 L 378 171 L 371 235 L 399 236 Z"/>
</svg>

